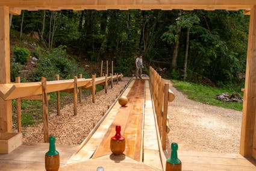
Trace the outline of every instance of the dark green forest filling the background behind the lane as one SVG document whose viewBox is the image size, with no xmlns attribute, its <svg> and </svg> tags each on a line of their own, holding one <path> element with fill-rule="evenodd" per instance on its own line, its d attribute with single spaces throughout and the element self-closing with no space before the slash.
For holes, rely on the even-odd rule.
<svg viewBox="0 0 256 171">
<path fill-rule="evenodd" d="M 153 66 L 169 79 L 239 89 L 245 82 L 249 16 L 242 10 L 22 10 L 10 28 L 12 81 L 27 56 L 37 62 L 23 81 L 87 75 L 84 64 L 101 60 L 131 76 L 142 54 L 144 73 Z"/>
</svg>

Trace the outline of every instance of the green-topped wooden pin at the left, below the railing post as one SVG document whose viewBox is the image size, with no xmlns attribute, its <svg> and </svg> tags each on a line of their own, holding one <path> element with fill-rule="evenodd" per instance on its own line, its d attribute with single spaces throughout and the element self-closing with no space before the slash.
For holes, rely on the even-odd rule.
<svg viewBox="0 0 256 171">
<path fill-rule="evenodd" d="M 55 149 L 55 137 L 49 138 L 49 151 L 45 154 L 45 169 L 47 171 L 57 171 L 60 167 L 60 154 Z"/>
</svg>

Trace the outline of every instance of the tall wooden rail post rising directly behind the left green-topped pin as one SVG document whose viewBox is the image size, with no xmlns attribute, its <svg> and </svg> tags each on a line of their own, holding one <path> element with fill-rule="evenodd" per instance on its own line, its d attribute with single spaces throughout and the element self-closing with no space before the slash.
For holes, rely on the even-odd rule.
<svg viewBox="0 0 256 171">
<path fill-rule="evenodd" d="M 49 141 L 49 128 L 48 128 L 48 100 L 46 90 L 46 78 L 41 77 L 42 82 L 42 101 L 43 101 L 43 139 L 45 143 Z"/>
</svg>

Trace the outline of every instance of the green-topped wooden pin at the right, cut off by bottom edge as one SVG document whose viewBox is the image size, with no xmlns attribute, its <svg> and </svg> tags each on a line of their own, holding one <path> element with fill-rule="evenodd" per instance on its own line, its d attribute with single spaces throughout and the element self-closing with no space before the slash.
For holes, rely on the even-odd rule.
<svg viewBox="0 0 256 171">
<path fill-rule="evenodd" d="M 170 158 L 166 160 L 166 171 L 181 171 L 181 161 L 178 159 L 177 143 L 172 143 L 171 145 L 172 153 L 170 154 Z"/>
</svg>

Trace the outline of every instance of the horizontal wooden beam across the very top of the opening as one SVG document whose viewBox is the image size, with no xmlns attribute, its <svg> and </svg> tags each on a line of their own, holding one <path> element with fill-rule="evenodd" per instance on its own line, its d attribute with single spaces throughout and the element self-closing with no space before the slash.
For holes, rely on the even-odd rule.
<svg viewBox="0 0 256 171">
<path fill-rule="evenodd" d="M 84 9 L 183 9 L 183 10 L 250 10 L 255 0 L 1 0 L 10 10 L 84 10 Z"/>
</svg>

